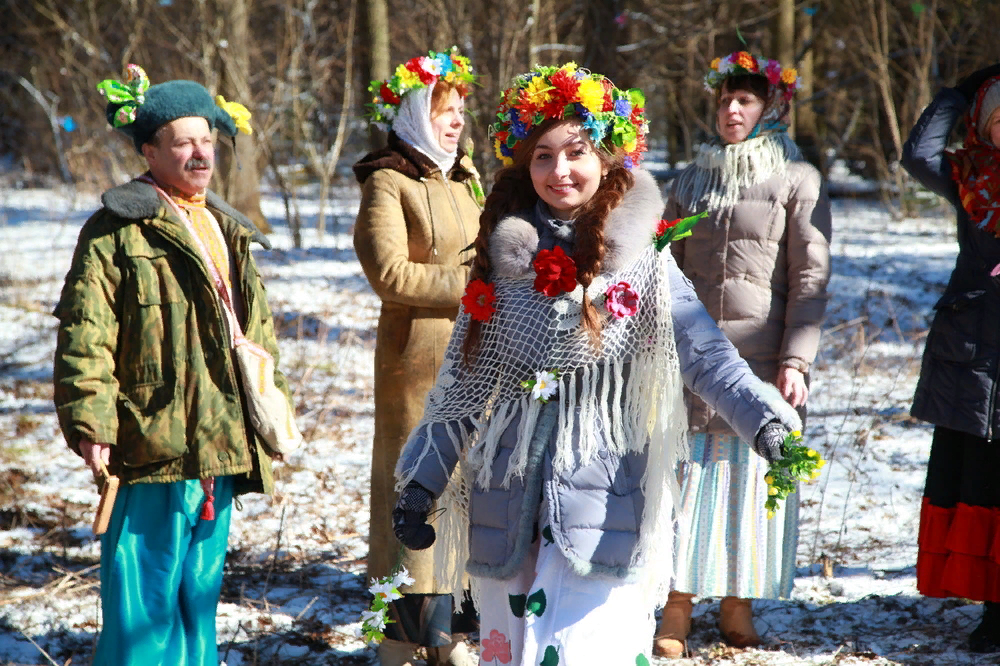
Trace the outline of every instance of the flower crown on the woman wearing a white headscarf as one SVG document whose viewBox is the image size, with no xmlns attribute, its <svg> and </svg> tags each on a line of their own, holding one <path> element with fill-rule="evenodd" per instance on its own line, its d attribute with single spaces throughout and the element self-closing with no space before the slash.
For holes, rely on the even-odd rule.
<svg viewBox="0 0 1000 666">
<path fill-rule="evenodd" d="M 390 78 L 369 84 L 368 92 L 372 94 L 371 103 L 366 105 L 369 122 L 387 131 L 406 93 L 434 85 L 438 80 L 455 84 L 458 94 L 465 97 L 469 85 L 476 82 L 476 75 L 469 59 L 454 46 L 449 51 L 428 51 L 425 56 L 410 58 L 397 65 Z"/>
</svg>

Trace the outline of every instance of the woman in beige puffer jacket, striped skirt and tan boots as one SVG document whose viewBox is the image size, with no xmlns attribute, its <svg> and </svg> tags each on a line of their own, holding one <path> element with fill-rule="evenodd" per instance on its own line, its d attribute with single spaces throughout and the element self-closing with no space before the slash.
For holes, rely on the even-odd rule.
<svg viewBox="0 0 1000 666">
<path fill-rule="evenodd" d="M 708 212 L 671 245 L 698 298 L 761 379 L 805 417 L 830 276 L 830 203 L 819 172 L 786 133 L 798 81 L 777 61 L 738 51 L 705 77 L 716 141 L 673 184 L 667 219 Z M 795 577 L 798 493 L 768 519 L 767 463 L 688 395 L 691 460 L 681 466 L 677 578 L 655 641 L 680 656 L 692 598 L 722 597 L 731 645 L 760 643 L 751 598 L 787 597 Z"/>
</svg>

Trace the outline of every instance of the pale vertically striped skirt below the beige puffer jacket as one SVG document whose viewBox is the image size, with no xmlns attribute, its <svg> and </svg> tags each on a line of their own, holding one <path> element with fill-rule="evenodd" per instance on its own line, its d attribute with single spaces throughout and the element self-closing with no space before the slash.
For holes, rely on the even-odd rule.
<svg viewBox="0 0 1000 666">
<path fill-rule="evenodd" d="M 674 589 L 699 597 L 788 597 L 795 578 L 799 494 L 767 517 L 767 461 L 735 436 L 689 434 L 681 463 Z"/>
</svg>

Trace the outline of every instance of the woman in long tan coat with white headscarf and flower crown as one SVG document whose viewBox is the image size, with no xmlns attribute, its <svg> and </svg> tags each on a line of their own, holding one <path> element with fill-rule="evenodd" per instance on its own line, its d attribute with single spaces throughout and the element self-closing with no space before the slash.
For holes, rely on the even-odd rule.
<svg viewBox="0 0 1000 666">
<path fill-rule="evenodd" d="M 432 572 L 434 549 L 404 550 L 393 535 L 396 458 L 420 421 L 469 276 L 482 190 L 471 160 L 458 149 L 464 98 L 473 76 L 456 51 L 400 65 L 371 90 L 374 122 L 390 128 L 388 145 L 354 165 L 361 208 L 354 248 L 382 299 L 375 344 L 375 441 L 372 451 L 368 575 L 399 565 L 415 582 L 392 603 L 379 645 L 382 666 L 411 663 L 418 646 L 430 664 L 471 664 L 452 631 L 471 631 L 470 608 L 455 616 L 450 591 Z M 471 606 L 471 604 L 470 604 Z"/>
</svg>

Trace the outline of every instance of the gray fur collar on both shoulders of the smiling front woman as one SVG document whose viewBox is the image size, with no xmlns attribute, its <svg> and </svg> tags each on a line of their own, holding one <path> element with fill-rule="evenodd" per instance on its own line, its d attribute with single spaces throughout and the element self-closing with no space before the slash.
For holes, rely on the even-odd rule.
<svg viewBox="0 0 1000 666">
<path fill-rule="evenodd" d="M 633 172 L 635 185 L 604 223 L 608 249 L 602 272 L 613 273 L 635 259 L 653 240 L 663 214 L 663 197 L 656 179 L 648 171 Z M 531 262 L 538 253 L 538 232 L 531 222 L 532 210 L 509 215 L 490 236 L 490 265 L 501 277 L 524 277 L 534 273 Z"/>
</svg>

